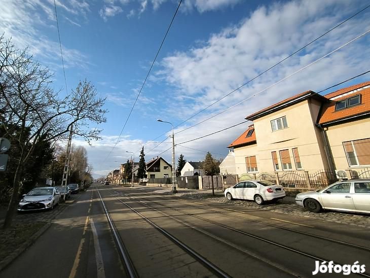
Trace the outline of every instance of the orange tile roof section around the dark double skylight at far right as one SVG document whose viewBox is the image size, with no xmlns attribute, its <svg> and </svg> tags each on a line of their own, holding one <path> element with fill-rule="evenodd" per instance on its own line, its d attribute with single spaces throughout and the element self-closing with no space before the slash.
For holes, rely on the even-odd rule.
<svg viewBox="0 0 370 278">
<path fill-rule="evenodd" d="M 356 90 L 360 87 L 367 86 L 367 85 L 370 85 L 370 82 L 361 83 L 361 84 L 354 85 L 348 88 L 344 88 L 336 92 L 327 94 L 325 95 L 325 97 L 328 97 L 328 96 L 335 97 L 335 96 L 344 94 L 352 90 Z M 345 108 L 343 110 L 335 111 L 336 101 L 345 99 L 347 97 L 355 96 L 357 94 L 361 95 L 360 105 L 356 105 L 350 108 Z M 319 124 L 327 124 L 333 121 L 344 120 L 346 118 L 358 116 L 358 115 L 368 113 L 368 112 L 370 112 L 370 88 L 366 88 L 361 91 L 354 92 L 353 94 L 336 98 L 335 100 L 332 100 L 328 103 L 324 103 L 322 107 L 321 117 L 319 119 Z"/>
</svg>

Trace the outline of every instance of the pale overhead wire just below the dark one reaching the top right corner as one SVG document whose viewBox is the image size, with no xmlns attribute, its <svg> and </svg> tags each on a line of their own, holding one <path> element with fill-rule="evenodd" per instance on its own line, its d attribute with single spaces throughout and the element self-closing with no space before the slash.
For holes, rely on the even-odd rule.
<svg viewBox="0 0 370 278">
<path fill-rule="evenodd" d="M 215 114 L 215 115 L 213 115 L 213 116 L 211 116 L 211 117 L 209 117 L 209 118 L 207 118 L 207 119 L 205 119 L 205 120 L 203 120 L 203 121 L 201 121 L 201 122 L 199 122 L 199 123 L 196 123 L 196 124 L 194 124 L 194 125 L 191 125 L 191 126 L 189 126 L 189 127 L 187 127 L 187 128 L 184 128 L 184 129 L 182 129 L 182 130 L 180 130 L 180 131 L 177 131 L 175 134 L 181 133 L 181 132 L 183 132 L 183 131 L 185 131 L 185 130 L 188 130 L 188 129 L 192 128 L 192 127 L 195 127 L 195 126 L 197 126 L 197 125 L 199 125 L 199 124 L 201 124 L 201 123 L 204 123 L 204 122 L 206 122 L 206 121 L 208 121 L 208 120 L 210 120 L 210 119 L 212 119 L 212 118 L 214 118 L 214 117 L 216 117 L 216 116 L 218 116 L 218 115 L 220 115 L 220 114 L 225 113 L 226 111 L 228 111 L 228 110 L 230 110 L 230 109 L 232 109 L 232 108 L 234 108 L 234 107 L 236 107 L 236 106 L 240 105 L 241 103 L 243 103 L 243 102 L 245 102 L 246 100 L 248 100 L 248 99 L 250 99 L 250 98 L 252 98 L 252 97 L 256 96 L 257 94 L 260 94 L 260 93 L 262 93 L 262 92 L 264 92 L 264 91 L 266 91 L 266 90 L 268 90 L 268 89 L 272 88 L 273 86 L 275 86 L 275 85 L 277 85 L 277 84 L 279 84 L 279 83 L 283 82 L 284 80 L 288 79 L 289 77 L 291 77 L 291 76 L 293 76 L 293 75 L 295 75 L 295 74 L 297 74 L 297 73 L 299 73 L 299 72 L 303 71 L 305 68 L 307 68 L 307 67 L 309 67 L 309 66 L 313 65 L 314 63 L 316 63 L 316 62 L 318 62 L 318 61 L 322 60 L 323 58 L 325 58 L 325 57 L 329 56 L 330 54 L 332 54 L 332 53 L 334 53 L 334 52 L 336 52 L 336 51 L 338 51 L 338 50 L 342 49 L 343 47 L 347 46 L 348 44 L 350 44 L 350 43 L 352 43 L 352 42 L 354 42 L 354 41 L 358 40 L 359 38 L 361 38 L 361 37 L 365 36 L 368 32 L 370 32 L 370 30 L 367 30 L 366 32 L 364 32 L 364 33 L 360 34 L 359 36 L 357 36 L 356 38 L 352 39 L 351 41 L 349 41 L 349 42 L 345 43 L 344 45 L 342 45 L 342 46 L 340 46 L 340 47 L 338 47 L 338 48 L 336 48 L 335 50 L 330 51 L 329 53 L 327 53 L 327 54 L 325 54 L 324 56 L 322 56 L 321 58 L 319 58 L 319 59 L 317 59 L 317 60 L 315 60 L 315 61 L 313 61 L 313 62 L 309 63 L 308 65 L 305 65 L 304 67 L 300 68 L 298 71 L 293 72 L 292 74 L 290 74 L 290 75 L 288 75 L 288 76 L 284 77 L 283 79 L 279 80 L 278 82 L 275 82 L 274 84 L 270 85 L 269 87 L 267 87 L 267 88 L 265 88 L 265 89 L 263 89 L 263 90 L 261 90 L 261 91 L 259 91 L 259 92 L 255 93 L 255 94 L 253 94 L 253 95 L 251 95 L 251 96 L 249 96 L 249 97 L 247 97 L 247 98 L 243 99 L 242 101 L 239 101 L 239 102 L 238 102 L 238 103 L 236 103 L 235 105 L 233 105 L 233 106 L 231 106 L 231 107 L 229 107 L 229 108 L 227 108 L 227 109 L 225 109 L 225 110 L 223 110 L 223 111 L 221 111 L 221 112 L 219 112 L 219 113 L 217 113 L 217 114 Z"/>
</svg>

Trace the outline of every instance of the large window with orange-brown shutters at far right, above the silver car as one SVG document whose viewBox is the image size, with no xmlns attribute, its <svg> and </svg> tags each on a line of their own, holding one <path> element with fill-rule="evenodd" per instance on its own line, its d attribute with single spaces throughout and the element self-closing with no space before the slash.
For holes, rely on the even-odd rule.
<svg viewBox="0 0 370 278">
<path fill-rule="evenodd" d="M 370 165 L 370 138 L 343 142 L 349 166 Z"/>
</svg>

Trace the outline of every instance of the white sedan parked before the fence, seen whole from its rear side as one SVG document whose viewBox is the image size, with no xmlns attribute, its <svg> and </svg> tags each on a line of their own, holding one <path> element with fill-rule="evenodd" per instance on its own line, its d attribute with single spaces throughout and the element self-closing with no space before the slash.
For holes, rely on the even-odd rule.
<svg viewBox="0 0 370 278">
<path fill-rule="evenodd" d="M 226 189 L 225 197 L 228 200 L 246 199 L 254 200 L 257 204 L 263 204 L 264 201 L 284 198 L 285 191 L 281 185 L 264 180 L 253 180 L 240 182 Z"/>
</svg>

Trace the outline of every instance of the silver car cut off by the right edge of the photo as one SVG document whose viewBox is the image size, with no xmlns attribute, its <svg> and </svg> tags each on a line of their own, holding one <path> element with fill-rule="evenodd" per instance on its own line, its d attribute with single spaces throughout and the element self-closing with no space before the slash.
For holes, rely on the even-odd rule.
<svg viewBox="0 0 370 278">
<path fill-rule="evenodd" d="M 317 191 L 302 192 L 295 196 L 295 202 L 313 213 L 370 213 L 370 179 L 341 181 Z"/>
</svg>

